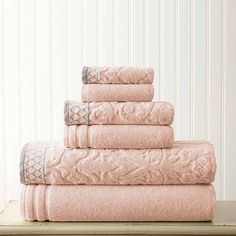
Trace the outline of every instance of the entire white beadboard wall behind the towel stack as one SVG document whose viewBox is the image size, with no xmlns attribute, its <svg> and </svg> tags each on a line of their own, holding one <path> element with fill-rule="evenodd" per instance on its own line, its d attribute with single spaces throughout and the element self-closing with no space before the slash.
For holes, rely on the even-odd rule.
<svg viewBox="0 0 236 236">
<path fill-rule="evenodd" d="M 22 145 L 62 139 L 83 65 L 154 67 L 176 139 L 213 142 L 217 198 L 236 200 L 235 12 L 235 0 L 0 0 L 0 205 L 19 196 Z"/>
</svg>

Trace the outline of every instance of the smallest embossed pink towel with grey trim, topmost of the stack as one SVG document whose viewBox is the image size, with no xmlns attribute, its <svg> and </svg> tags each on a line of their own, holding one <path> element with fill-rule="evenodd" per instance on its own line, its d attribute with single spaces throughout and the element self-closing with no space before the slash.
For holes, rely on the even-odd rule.
<svg viewBox="0 0 236 236">
<path fill-rule="evenodd" d="M 151 84 L 152 68 L 141 67 L 84 67 L 84 84 Z"/>
</svg>

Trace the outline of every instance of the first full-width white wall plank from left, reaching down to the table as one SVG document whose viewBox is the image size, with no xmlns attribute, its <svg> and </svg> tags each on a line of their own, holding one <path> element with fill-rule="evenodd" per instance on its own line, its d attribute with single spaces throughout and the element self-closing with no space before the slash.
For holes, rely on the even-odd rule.
<svg viewBox="0 0 236 236">
<path fill-rule="evenodd" d="M 4 134 L 6 197 L 19 195 L 18 1 L 4 1 Z M 27 128 L 28 130 L 29 128 Z M 13 187 L 14 186 L 14 187 Z"/>
</svg>

